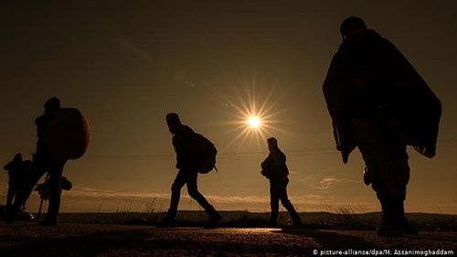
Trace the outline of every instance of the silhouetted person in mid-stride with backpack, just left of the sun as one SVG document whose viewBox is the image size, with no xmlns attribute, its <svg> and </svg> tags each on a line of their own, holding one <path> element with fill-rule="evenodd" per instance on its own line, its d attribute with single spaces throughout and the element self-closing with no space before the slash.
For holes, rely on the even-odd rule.
<svg viewBox="0 0 457 257">
<path fill-rule="evenodd" d="M 194 198 L 209 216 L 205 228 L 214 228 L 218 221 L 222 220 L 222 216 L 198 191 L 197 177 L 198 173 L 208 172 L 208 168 L 205 167 L 207 163 L 212 163 L 211 169 L 214 167 L 215 154 L 206 155 L 207 150 L 202 149 L 202 145 L 205 145 L 202 139 L 205 137 L 195 133 L 190 127 L 181 123 L 177 113 L 170 112 L 166 114 L 166 123 L 170 133 L 173 134 L 173 146 L 176 153 L 175 167 L 178 169 L 178 173 L 171 187 L 170 208 L 165 220 L 159 225 L 163 228 L 176 227 L 175 219 L 181 188 L 186 185 L 189 196 Z"/>
</svg>

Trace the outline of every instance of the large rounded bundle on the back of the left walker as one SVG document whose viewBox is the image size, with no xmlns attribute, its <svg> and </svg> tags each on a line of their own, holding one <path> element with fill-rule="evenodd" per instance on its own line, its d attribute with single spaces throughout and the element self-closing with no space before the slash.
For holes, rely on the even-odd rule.
<svg viewBox="0 0 457 257">
<path fill-rule="evenodd" d="M 56 159 L 78 159 L 90 144 L 90 127 L 76 108 L 60 108 L 43 128 L 43 141 Z"/>
</svg>

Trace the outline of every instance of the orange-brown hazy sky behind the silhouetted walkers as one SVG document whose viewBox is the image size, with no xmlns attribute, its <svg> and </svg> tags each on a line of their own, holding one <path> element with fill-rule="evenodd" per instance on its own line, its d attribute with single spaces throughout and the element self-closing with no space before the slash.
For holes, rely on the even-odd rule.
<svg viewBox="0 0 457 257">
<path fill-rule="evenodd" d="M 341 21 L 362 16 L 443 107 L 436 157 L 409 149 L 406 210 L 457 214 L 457 2 L 51 2 L 0 4 L 0 163 L 16 153 L 30 158 L 33 121 L 49 97 L 79 108 L 92 142 L 65 168 L 74 187 L 63 193 L 62 211 L 143 211 L 152 198 L 165 211 L 176 173 L 167 112 L 217 145 L 219 174 L 199 177 L 217 209 L 269 211 L 260 162 L 275 136 L 299 211 L 379 211 L 360 154 L 343 165 L 335 150 L 322 93 Z M 248 112 L 263 116 L 261 133 L 245 129 Z M 6 187 L 3 173 L 2 198 Z M 198 209 L 186 197 L 179 208 Z M 36 194 L 29 209 L 37 209 Z"/>
</svg>

